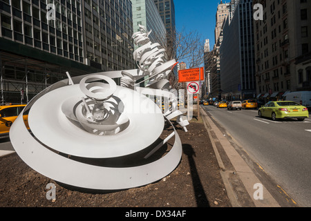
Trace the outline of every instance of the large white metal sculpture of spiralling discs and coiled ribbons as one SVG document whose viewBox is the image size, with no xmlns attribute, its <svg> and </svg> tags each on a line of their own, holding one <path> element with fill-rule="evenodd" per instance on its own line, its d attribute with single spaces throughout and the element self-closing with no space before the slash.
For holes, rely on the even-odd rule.
<svg viewBox="0 0 311 221">
<path fill-rule="evenodd" d="M 78 77 L 67 73 L 68 79 L 34 97 L 23 110 L 29 111 L 32 133 L 23 113 L 10 129 L 19 157 L 42 175 L 86 189 L 129 189 L 171 173 L 182 155 L 180 138 L 175 128 L 164 140 L 158 138 L 170 119 L 176 117 L 186 131 L 189 122 L 178 111 L 176 95 L 167 90 L 166 77 L 176 61 L 166 61 L 164 50 L 151 44 L 148 35 L 143 26 L 133 34 L 140 46 L 134 52 L 137 70 Z M 149 79 L 147 87 L 136 84 L 142 77 Z M 121 78 L 121 86 L 113 78 Z M 153 97 L 164 97 L 171 108 L 163 113 Z M 169 153 L 144 161 L 172 137 Z M 123 165 L 124 158 L 133 163 Z"/>
</svg>

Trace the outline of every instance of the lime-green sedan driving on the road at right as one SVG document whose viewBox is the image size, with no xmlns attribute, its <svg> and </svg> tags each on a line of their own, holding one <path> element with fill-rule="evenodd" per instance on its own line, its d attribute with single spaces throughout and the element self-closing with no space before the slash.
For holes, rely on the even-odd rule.
<svg viewBox="0 0 311 221">
<path fill-rule="evenodd" d="M 258 110 L 259 117 L 271 117 L 272 120 L 296 118 L 303 121 L 309 117 L 308 108 L 296 102 L 268 102 Z"/>
</svg>

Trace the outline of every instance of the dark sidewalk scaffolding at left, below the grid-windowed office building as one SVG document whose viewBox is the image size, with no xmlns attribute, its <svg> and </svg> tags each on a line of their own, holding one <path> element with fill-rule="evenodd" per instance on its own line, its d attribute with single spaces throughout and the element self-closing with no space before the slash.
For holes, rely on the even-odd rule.
<svg viewBox="0 0 311 221">
<path fill-rule="evenodd" d="M 0 51 L 0 69 L 1 105 L 28 104 L 42 90 L 66 78 L 66 71 L 71 76 L 89 74 L 6 51 Z"/>
</svg>

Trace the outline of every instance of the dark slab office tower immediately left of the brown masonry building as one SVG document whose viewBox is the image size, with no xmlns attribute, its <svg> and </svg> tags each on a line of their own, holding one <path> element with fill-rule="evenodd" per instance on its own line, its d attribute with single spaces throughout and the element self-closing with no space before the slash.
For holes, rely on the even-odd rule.
<svg viewBox="0 0 311 221">
<path fill-rule="evenodd" d="M 224 99 L 256 97 L 252 0 L 240 0 L 232 21 L 225 21 L 220 67 Z"/>
</svg>

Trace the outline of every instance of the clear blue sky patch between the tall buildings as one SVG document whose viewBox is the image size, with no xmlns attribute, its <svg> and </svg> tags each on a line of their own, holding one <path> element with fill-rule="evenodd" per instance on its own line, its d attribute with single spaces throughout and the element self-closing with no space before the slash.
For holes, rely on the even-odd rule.
<svg viewBox="0 0 311 221">
<path fill-rule="evenodd" d="M 215 44 L 218 3 L 220 0 L 174 0 L 177 30 L 181 30 L 182 27 L 186 31 L 197 30 L 202 41 L 209 39 L 209 47 L 212 49 Z"/>
</svg>

